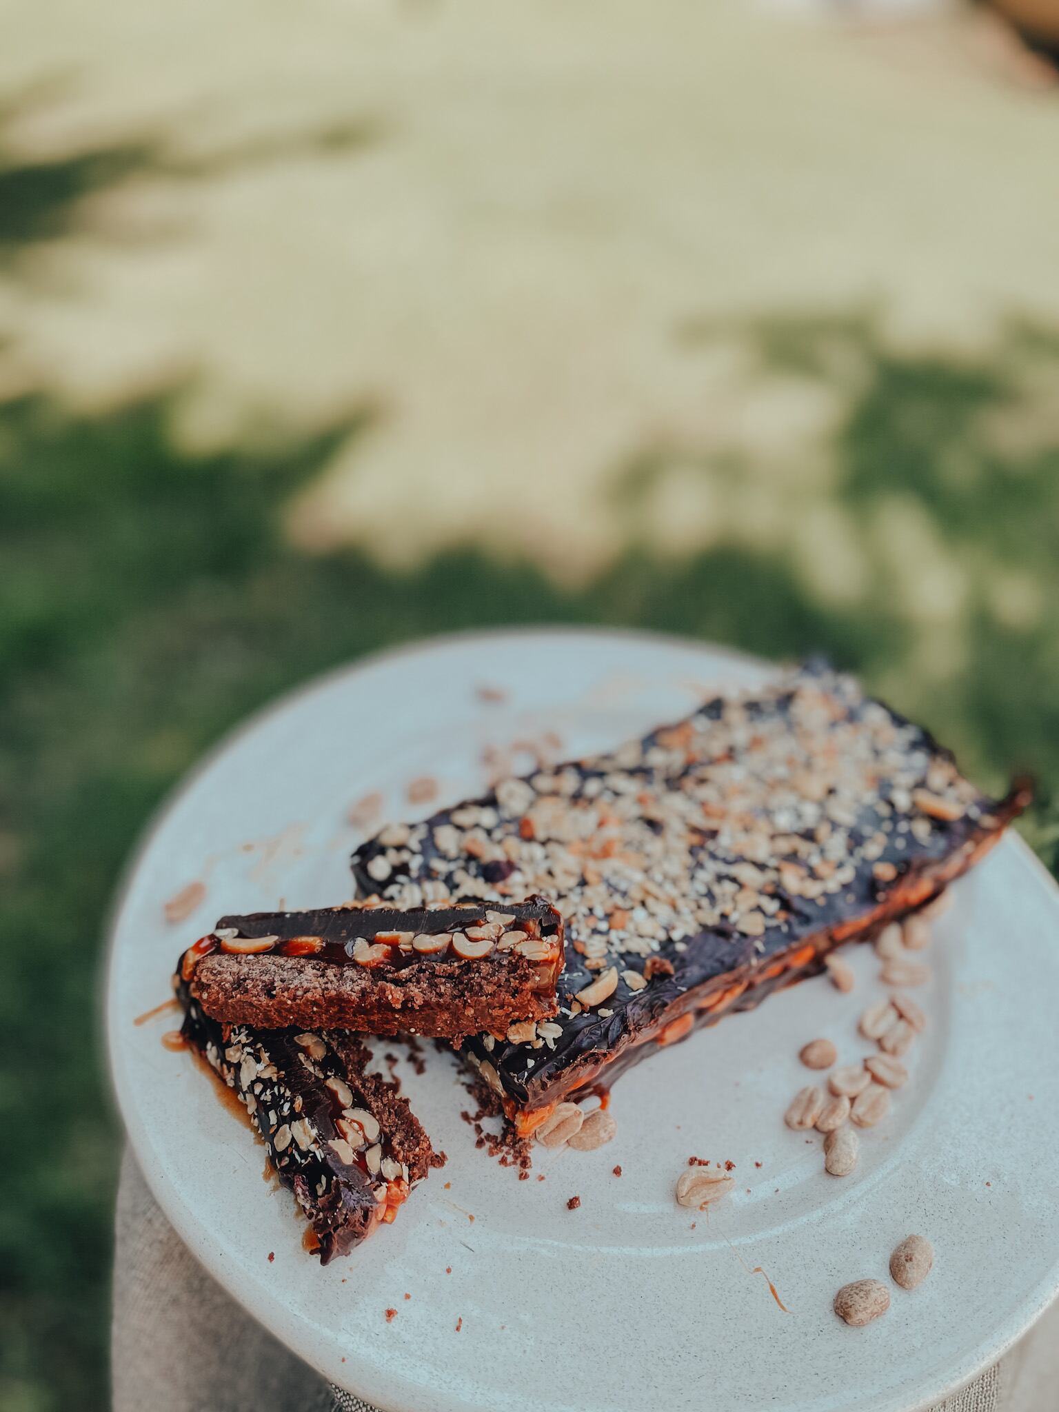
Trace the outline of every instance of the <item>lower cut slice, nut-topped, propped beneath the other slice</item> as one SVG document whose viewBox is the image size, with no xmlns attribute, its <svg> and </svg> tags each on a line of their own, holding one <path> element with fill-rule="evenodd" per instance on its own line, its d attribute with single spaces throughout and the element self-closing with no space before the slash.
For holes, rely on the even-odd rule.
<svg viewBox="0 0 1059 1412">
<path fill-rule="evenodd" d="M 359 1039 L 223 1025 L 192 998 L 182 962 L 184 1038 L 246 1108 L 326 1265 L 393 1221 L 409 1189 L 445 1158 L 397 1084 L 367 1072 L 370 1056 Z"/>
</svg>

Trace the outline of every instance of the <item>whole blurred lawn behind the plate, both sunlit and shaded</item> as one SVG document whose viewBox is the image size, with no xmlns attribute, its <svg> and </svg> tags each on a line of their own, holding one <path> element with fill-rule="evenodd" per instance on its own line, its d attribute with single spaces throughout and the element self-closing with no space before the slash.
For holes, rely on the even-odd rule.
<svg viewBox="0 0 1059 1412">
<path fill-rule="evenodd" d="M 507 623 L 823 650 L 1031 768 L 1059 866 L 1049 92 L 953 16 L 244 6 L 225 56 L 198 0 L 59 10 L 0 56 L 4 1412 L 106 1405 L 121 863 L 313 672 Z"/>
</svg>

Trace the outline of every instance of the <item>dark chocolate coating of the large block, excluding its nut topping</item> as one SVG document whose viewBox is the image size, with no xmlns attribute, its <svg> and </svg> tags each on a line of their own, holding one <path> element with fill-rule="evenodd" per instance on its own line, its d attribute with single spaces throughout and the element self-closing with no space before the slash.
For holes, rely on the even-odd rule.
<svg viewBox="0 0 1059 1412">
<path fill-rule="evenodd" d="M 789 712 L 794 700 L 796 683 L 799 681 L 820 679 L 826 683 L 846 679 L 830 676 L 826 665 L 813 662 L 794 678 L 795 685 L 791 692 L 779 693 L 762 702 L 750 700 L 746 703 L 748 720 L 762 719 L 768 713 L 775 724 L 777 714 Z M 932 762 L 952 762 L 952 755 L 942 750 L 928 731 L 914 726 L 905 717 L 880 707 L 880 703 L 860 696 L 847 685 L 836 690 L 836 702 L 842 709 L 842 720 L 846 726 L 857 723 L 860 713 L 880 709 L 887 710 L 890 720 L 898 730 L 902 748 L 908 758 L 922 760 L 922 777 Z M 703 723 L 719 720 L 726 706 L 724 698 L 707 702 L 703 707 L 688 717 L 699 729 Z M 668 789 L 681 791 L 688 782 L 696 778 L 709 778 L 713 768 L 709 748 L 699 751 L 695 758 L 679 758 L 676 764 L 671 758 L 661 765 L 651 762 L 652 747 L 664 743 L 676 727 L 659 727 L 651 731 L 641 741 L 641 758 L 628 764 L 616 764 L 621 760 L 621 751 L 613 755 L 596 757 L 587 761 L 572 762 L 561 770 L 573 770 L 578 774 L 578 786 L 573 799 L 585 795 L 586 786 L 592 781 L 602 779 L 609 771 L 620 768 L 624 774 L 634 775 L 645 786 L 655 792 Z M 702 737 L 700 737 L 702 738 Z M 709 733 L 705 736 L 709 746 Z M 664 753 L 664 751 L 662 751 Z M 527 782 L 532 777 L 525 777 Z M 888 784 L 880 781 L 877 798 L 887 798 Z M 744 1010 L 758 1004 L 771 990 L 781 984 L 789 984 L 795 976 L 819 970 L 820 956 L 839 939 L 851 935 L 870 936 L 890 918 L 909 911 L 915 905 L 922 905 L 933 892 L 952 877 L 957 875 L 974 854 L 997 836 L 1003 827 L 1025 808 L 1029 798 L 1029 786 L 1019 782 L 1003 801 L 993 801 L 979 795 L 971 802 L 962 818 L 956 820 L 929 820 L 929 836 L 918 837 L 909 829 L 909 823 L 895 823 L 892 809 L 877 808 L 873 799 L 864 801 L 856 820 L 850 820 L 849 827 L 849 864 L 853 866 L 853 877 L 839 892 L 829 892 L 820 898 L 805 898 L 791 895 L 782 888 L 775 888 L 774 897 L 781 904 L 775 916 L 767 919 L 764 933 L 758 936 L 743 935 L 736 926 L 726 922 L 705 928 L 696 935 L 689 935 L 682 940 L 664 939 L 657 950 L 657 956 L 668 962 L 672 974 L 655 974 L 645 988 L 633 990 L 627 984 L 621 971 L 644 973 L 645 959 L 638 955 L 623 953 L 611 957 L 610 963 L 618 967 L 618 983 L 614 994 L 602 1008 L 609 1014 L 600 1015 L 597 1008 L 583 1010 L 579 1014 L 561 1014 L 561 1035 L 555 1036 L 548 1046 L 531 1048 L 527 1043 L 497 1042 L 490 1046 L 484 1036 L 476 1036 L 465 1042 L 465 1052 L 472 1062 L 487 1063 L 496 1072 L 503 1096 L 514 1108 L 537 1107 L 551 1097 L 568 1091 L 586 1082 L 585 1075 L 593 1067 L 614 1059 L 621 1051 L 650 1039 L 661 1031 L 666 1022 L 700 1007 L 716 993 L 724 991 L 736 984 L 746 983 L 746 988 L 730 1001 L 717 1007 L 716 1012 L 705 1011 L 695 1017 L 695 1022 L 710 1022 L 729 1010 Z M 480 799 L 472 801 L 472 806 L 484 806 L 498 812 L 497 794 L 490 792 Z M 450 882 L 456 870 L 480 878 L 489 888 L 511 887 L 517 890 L 518 878 L 515 866 L 507 867 L 501 863 L 480 864 L 477 858 L 462 854 L 457 860 L 442 856 L 433 840 L 433 830 L 439 825 L 452 822 L 453 813 L 467 805 L 457 805 L 455 809 L 445 809 L 426 820 L 425 829 L 415 834 L 415 847 L 411 856 L 393 866 L 391 877 L 387 880 L 385 892 L 395 895 L 404 882 L 422 882 L 425 880 L 439 880 L 442 884 Z M 878 834 L 880 827 L 888 827 L 885 847 L 866 857 L 861 851 L 867 840 Z M 489 832 L 489 830 L 487 830 Z M 796 829 L 791 832 L 798 832 Z M 922 832 L 922 830 L 921 830 Z M 510 819 L 504 820 L 497 830 L 497 837 L 510 833 Z M 716 844 L 703 829 L 693 857 L 710 854 L 717 857 Z M 356 850 L 352 858 L 353 877 L 361 892 L 373 892 L 378 882 L 367 873 L 373 858 L 380 854 L 393 857 L 378 840 L 369 840 Z M 738 858 L 727 858 L 733 866 Z M 880 877 L 880 864 L 892 866 L 892 877 Z M 915 885 L 918 882 L 918 887 Z M 459 888 L 453 885 L 453 894 Z M 505 907 L 507 899 L 501 894 L 491 892 L 497 901 L 494 905 Z M 556 898 L 562 907 L 562 898 Z M 621 901 L 617 898 L 616 901 Z M 578 945 L 578 928 L 570 916 L 566 916 L 568 942 Z M 842 936 L 834 938 L 833 931 L 839 928 Z M 809 943 L 813 943 L 815 955 L 812 960 L 799 960 L 794 970 L 779 976 L 762 979 L 779 959 L 789 959 Z M 582 964 L 576 949 L 568 946 L 566 964 L 559 976 L 558 1000 L 561 1008 L 570 1007 L 578 991 L 593 980 L 593 971 Z"/>
</svg>

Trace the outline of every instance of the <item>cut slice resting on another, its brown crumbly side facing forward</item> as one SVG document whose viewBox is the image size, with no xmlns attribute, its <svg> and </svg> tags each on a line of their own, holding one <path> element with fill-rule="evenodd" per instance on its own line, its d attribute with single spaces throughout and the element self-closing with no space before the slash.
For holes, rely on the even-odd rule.
<svg viewBox="0 0 1059 1412">
<path fill-rule="evenodd" d="M 185 967 L 203 1011 L 229 1024 L 460 1039 L 554 1015 L 562 962 L 562 918 L 534 897 L 222 916 Z"/>
</svg>

